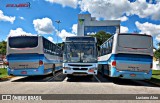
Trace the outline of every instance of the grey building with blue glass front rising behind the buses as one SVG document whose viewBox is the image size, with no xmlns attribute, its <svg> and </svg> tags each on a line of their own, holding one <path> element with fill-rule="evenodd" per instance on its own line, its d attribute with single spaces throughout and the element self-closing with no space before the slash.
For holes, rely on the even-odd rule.
<svg viewBox="0 0 160 103">
<path fill-rule="evenodd" d="M 78 36 L 87 36 L 96 34 L 99 31 L 115 34 L 120 32 L 120 20 L 102 20 L 98 21 L 90 14 L 78 15 Z"/>
</svg>

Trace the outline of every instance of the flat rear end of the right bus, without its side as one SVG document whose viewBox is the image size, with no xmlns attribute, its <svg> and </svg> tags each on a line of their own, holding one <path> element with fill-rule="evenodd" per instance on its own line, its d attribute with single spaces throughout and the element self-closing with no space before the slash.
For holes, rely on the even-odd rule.
<svg viewBox="0 0 160 103">
<path fill-rule="evenodd" d="M 116 42 L 113 44 L 110 76 L 150 79 L 153 58 L 152 37 L 143 34 L 118 34 L 114 39 Z"/>
</svg>

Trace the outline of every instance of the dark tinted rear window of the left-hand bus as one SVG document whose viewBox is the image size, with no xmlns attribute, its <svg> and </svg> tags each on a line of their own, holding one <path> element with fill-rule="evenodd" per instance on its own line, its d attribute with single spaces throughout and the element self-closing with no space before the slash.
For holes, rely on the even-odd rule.
<svg viewBox="0 0 160 103">
<path fill-rule="evenodd" d="M 38 37 L 20 36 L 9 38 L 10 48 L 33 48 L 38 46 Z"/>
</svg>

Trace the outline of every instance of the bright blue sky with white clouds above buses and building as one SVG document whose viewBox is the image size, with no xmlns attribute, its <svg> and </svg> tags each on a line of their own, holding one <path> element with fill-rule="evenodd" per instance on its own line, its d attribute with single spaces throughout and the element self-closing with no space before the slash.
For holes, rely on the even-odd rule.
<svg viewBox="0 0 160 103">
<path fill-rule="evenodd" d="M 19 4 L 30 6 L 10 7 Z M 62 42 L 77 34 L 78 14 L 121 20 L 121 32 L 152 35 L 155 47 L 160 42 L 160 0 L 0 0 L 0 41 L 23 34 Z"/>
</svg>

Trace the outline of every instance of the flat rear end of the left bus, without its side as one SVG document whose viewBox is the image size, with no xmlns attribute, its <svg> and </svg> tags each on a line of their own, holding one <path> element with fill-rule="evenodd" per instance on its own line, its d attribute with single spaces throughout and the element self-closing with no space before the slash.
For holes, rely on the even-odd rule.
<svg viewBox="0 0 160 103">
<path fill-rule="evenodd" d="M 7 42 L 8 74 L 43 75 L 42 39 L 38 36 L 9 37 Z"/>
</svg>

